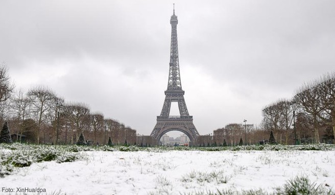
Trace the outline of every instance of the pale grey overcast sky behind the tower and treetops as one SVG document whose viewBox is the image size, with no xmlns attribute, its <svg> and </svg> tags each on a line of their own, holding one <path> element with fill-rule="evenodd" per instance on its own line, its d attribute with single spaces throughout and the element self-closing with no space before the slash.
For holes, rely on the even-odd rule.
<svg viewBox="0 0 335 195">
<path fill-rule="evenodd" d="M 335 70 L 331 0 L 1 0 L 0 61 L 16 88 L 49 86 L 149 135 L 167 88 L 173 3 L 182 88 L 200 134 L 259 124 L 267 104 Z"/>
</svg>

